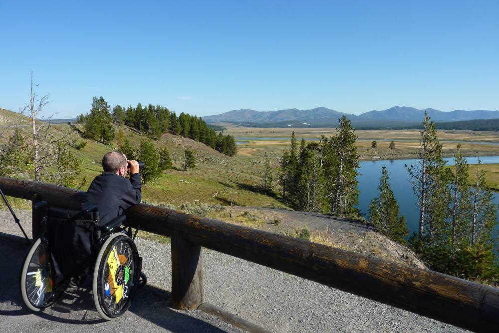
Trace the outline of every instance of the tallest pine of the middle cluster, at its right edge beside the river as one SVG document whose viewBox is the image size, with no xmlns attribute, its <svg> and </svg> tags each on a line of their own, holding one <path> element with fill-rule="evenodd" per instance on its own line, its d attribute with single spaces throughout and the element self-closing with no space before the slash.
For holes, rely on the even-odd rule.
<svg viewBox="0 0 499 333">
<path fill-rule="evenodd" d="M 331 137 L 328 150 L 331 155 L 326 167 L 328 193 L 331 212 L 333 214 L 358 213 L 353 206 L 358 203 L 357 171 L 359 155 L 354 146 L 357 136 L 352 123 L 345 116 L 339 119 L 338 133 Z"/>
</svg>

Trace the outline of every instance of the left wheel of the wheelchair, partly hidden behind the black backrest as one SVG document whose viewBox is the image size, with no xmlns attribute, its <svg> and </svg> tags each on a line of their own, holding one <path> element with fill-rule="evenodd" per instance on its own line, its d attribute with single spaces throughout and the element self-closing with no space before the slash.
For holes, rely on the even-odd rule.
<svg viewBox="0 0 499 333">
<path fill-rule="evenodd" d="M 19 280 L 22 300 L 32 311 L 50 307 L 64 294 L 63 286 L 54 285 L 55 270 L 43 235 L 31 244 Z"/>
</svg>

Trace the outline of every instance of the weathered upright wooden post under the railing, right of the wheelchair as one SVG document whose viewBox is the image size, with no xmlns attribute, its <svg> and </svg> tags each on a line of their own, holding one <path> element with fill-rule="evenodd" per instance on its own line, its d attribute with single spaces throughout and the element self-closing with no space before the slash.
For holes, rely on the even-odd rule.
<svg viewBox="0 0 499 333">
<path fill-rule="evenodd" d="M 203 303 L 203 253 L 181 232 L 172 235 L 172 307 L 196 309 Z"/>
</svg>

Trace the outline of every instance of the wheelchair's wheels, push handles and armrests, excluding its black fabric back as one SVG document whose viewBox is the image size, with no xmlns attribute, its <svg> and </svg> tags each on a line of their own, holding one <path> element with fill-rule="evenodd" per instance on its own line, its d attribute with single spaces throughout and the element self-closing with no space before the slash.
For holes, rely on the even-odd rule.
<svg viewBox="0 0 499 333">
<path fill-rule="evenodd" d="M 43 216 L 43 231 L 31 243 L 23 261 L 20 289 L 26 306 L 38 312 L 50 307 L 62 297 L 69 286 L 71 276 L 56 274 L 47 237 L 48 203 L 38 202 L 33 205 L 33 210 L 43 213 L 40 214 Z M 80 213 L 96 211 L 95 206 L 90 206 Z M 80 213 L 70 217 L 68 223 Z M 98 220 L 91 221 L 94 227 L 94 251 L 97 253 L 93 263 L 93 299 L 99 316 L 105 320 L 115 319 L 125 313 L 135 292 L 147 283 L 147 278 L 142 273 L 142 258 L 139 257 L 133 241 L 138 229 L 132 238 L 132 228 L 124 225 L 125 219 L 126 216 L 121 215 L 100 227 Z M 124 227 L 121 227 L 122 225 Z M 82 266 L 81 273 L 91 265 L 88 263 Z"/>
</svg>

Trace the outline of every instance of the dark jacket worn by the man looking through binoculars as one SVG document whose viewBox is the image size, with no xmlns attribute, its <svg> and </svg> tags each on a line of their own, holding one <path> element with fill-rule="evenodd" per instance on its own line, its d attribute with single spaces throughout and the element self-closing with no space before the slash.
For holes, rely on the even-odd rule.
<svg viewBox="0 0 499 333">
<path fill-rule="evenodd" d="M 104 225 L 123 210 L 140 203 L 140 174 L 130 175 L 130 179 L 120 177 L 114 172 L 104 172 L 94 178 L 88 188 L 81 208 L 90 205 L 97 206 L 100 216 L 100 225 Z"/>
</svg>

